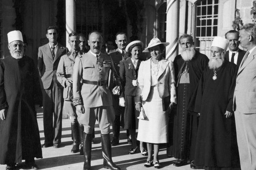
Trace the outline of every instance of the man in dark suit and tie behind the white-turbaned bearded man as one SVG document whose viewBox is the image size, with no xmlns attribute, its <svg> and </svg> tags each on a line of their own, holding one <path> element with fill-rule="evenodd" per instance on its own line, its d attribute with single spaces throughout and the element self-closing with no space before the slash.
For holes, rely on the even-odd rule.
<svg viewBox="0 0 256 170">
<path fill-rule="evenodd" d="M 245 51 L 239 49 L 239 32 L 230 30 L 225 34 L 225 38 L 228 39 L 228 51 L 225 54 L 225 59 L 235 63 L 238 67 L 245 56 Z"/>
</svg>

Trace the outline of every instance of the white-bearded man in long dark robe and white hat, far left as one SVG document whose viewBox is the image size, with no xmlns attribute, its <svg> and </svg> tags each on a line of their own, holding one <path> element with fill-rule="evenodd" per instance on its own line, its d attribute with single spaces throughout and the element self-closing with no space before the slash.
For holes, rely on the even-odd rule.
<svg viewBox="0 0 256 170">
<path fill-rule="evenodd" d="M 25 160 L 37 170 L 42 158 L 34 97 L 39 79 L 31 58 L 24 56 L 20 31 L 7 34 L 11 56 L 0 60 L 0 164 L 13 170 Z"/>
</svg>

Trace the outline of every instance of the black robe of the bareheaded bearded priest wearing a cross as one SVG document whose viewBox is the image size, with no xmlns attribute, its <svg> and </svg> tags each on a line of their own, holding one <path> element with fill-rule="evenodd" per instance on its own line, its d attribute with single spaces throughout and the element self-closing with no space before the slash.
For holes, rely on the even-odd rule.
<svg viewBox="0 0 256 170">
<path fill-rule="evenodd" d="M 207 67 L 209 59 L 206 55 L 196 51 L 194 58 L 188 62 L 189 72 L 189 84 L 185 90 L 185 107 L 187 107 L 190 98 L 192 97 L 199 79 L 203 73 L 203 70 Z M 176 82 L 176 94 L 177 94 L 177 107 L 174 107 L 171 111 L 169 119 L 169 143 L 167 144 L 167 156 L 174 156 L 177 159 L 193 159 L 190 156 L 190 152 L 194 153 L 194 146 L 196 141 L 196 132 L 198 125 L 198 118 L 192 114 L 189 114 L 184 110 L 183 95 L 184 93 L 182 84 L 179 84 L 178 77 L 181 75 L 182 70 L 185 68 L 185 61 L 181 55 L 178 55 L 174 59 L 175 69 L 175 82 Z M 182 132 L 182 128 L 186 128 L 185 132 Z"/>
</svg>

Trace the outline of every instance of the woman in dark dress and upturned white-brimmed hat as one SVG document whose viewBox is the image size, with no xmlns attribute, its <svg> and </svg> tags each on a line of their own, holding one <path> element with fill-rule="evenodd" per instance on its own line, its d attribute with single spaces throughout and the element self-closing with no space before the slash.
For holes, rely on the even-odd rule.
<svg viewBox="0 0 256 170">
<path fill-rule="evenodd" d="M 119 105 L 125 107 L 124 111 L 124 128 L 128 129 L 132 137 L 132 148 L 129 154 L 134 154 L 138 148 L 136 143 L 136 127 L 138 127 L 139 115 L 135 109 L 135 93 L 137 86 L 138 70 L 140 65 L 139 57 L 141 55 L 143 43 L 141 41 L 133 41 L 126 47 L 126 52 L 131 56 L 120 65 L 120 80 L 122 85 L 122 93 L 120 95 Z M 146 156 L 147 152 L 142 143 L 140 145 L 142 155 Z"/>
</svg>

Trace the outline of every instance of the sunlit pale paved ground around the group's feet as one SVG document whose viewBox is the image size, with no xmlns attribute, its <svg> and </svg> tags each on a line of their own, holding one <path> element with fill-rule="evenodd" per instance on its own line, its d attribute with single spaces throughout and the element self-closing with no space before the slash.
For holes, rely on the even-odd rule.
<svg viewBox="0 0 256 170">
<path fill-rule="evenodd" d="M 42 109 L 38 109 L 37 121 L 39 125 L 41 144 L 44 143 L 43 134 L 43 113 Z M 53 147 L 42 148 L 43 159 L 36 160 L 36 164 L 42 170 L 82 170 L 83 169 L 83 156 L 79 153 L 71 153 L 71 125 L 69 119 L 62 120 L 62 139 L 60 148 L 54 149 Z M 100 128 L 96 123 L 95 125 L 95 142 L 92 144 L 92 170 L 106 170 L 103 168 L 103 158 L 100 143 Z M 112 133 L 111 133 L 112 134 Z M 153 134 L 152 134 L 153 135 Z M 112 135 L 111 135 L 112 138 Z M 154 167 L 146 168 L 144 163 L 146 162 L 146 156 L 142 156 L 139 152 L 129 155 L 128 151 L 131 146 L 127 144 L 126 130 L 121 128 L 120 132 L 120 144 L 112 147 L 112 159 L 121 170 L 155 170 Z M 191 170 L 189 165 L 183 167 L 174 167 L 173 163 L 176 161 L 174 158 L 167 158 L 166 148 L 160 147 L 159 159 L 161 170 Z M 24 162 L 24 161 L 23 161 Z M 6 165 L 0 165 L 0 170 L 5 170 Z M 23 169 L 19 166 L 20 170 Z"/>
</svg>

